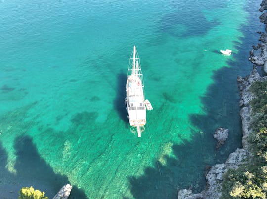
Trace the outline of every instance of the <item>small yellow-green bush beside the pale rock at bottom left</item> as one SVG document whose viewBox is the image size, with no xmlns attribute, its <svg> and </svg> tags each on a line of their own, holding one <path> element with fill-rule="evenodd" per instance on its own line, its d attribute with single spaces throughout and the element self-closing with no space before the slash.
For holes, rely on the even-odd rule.
<svg viewBox="0 0 267 199">
<path fill-rule="evenodd" d="M 19 191 L 19 199 L 48 199 L 48 197 L 45 196 L 45 192 L 34 190 L 33 187 L 22 187 Z"/>
</svg>

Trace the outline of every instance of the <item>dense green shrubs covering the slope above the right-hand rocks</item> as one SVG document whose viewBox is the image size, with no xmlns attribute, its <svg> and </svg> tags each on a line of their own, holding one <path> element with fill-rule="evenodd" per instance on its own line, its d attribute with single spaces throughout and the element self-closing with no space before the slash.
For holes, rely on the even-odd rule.
<svg viewBox="0 0 267 199">
<path fill-rule="evenodd" d="M 249 143 L 254 156 L 249 164 L 224 175 L 222 199 L 267 198 L 267 80 L 254 82 L 250 91 L 256 96 L 250 102 L 253 131 Z"/>
</svg>

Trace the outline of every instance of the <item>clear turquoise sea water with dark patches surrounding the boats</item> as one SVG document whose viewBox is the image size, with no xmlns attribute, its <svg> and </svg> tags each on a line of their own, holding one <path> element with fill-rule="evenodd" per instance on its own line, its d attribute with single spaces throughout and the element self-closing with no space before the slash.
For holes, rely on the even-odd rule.
<svg viewBox="0 0 267 199">
<path fill-rule="evenodd" d="M 72 198 L 203 189 L 205 166 L 241 146 L 236 77 L 251 70 L 259 4 L 1 2 L 0 195 L 33 186 L 52 197 L 67 182 Z M 124 104 L 134 45 L 154 108 L 141 138 Z M 230 135 L 216 151 L 222 126 Z"/>
</svg>

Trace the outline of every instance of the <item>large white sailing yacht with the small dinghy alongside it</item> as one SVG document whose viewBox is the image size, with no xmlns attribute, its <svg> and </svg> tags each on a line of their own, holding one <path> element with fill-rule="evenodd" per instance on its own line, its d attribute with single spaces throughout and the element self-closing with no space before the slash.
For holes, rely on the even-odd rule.
<svg viewBox="0 0 267 199">
<path fill-rule="evenodd" d="M 140 127 L 146 124 L 146 106 L 152 110 L 150 102 L 144 98 L 143 74 L 140 66 L 140 58 L 134 46 L 129 60 L 126 83 L 126 106 L 129 124 L 137 128 L 138 137 L 141 137 Z"/>
</svg>

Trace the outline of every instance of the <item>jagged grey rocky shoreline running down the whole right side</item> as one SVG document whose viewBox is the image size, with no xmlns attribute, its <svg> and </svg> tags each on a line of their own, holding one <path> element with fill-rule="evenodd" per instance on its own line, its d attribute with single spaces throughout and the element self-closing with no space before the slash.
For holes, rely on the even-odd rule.
<svg viewBox="0 0 267 199">
<path fill-rule="evenodd" d="M 267 10 L 267 2 L 263 0 L 261 3 L 260 11 Z M 261 22 L 267 25 L 267 12 L 260 16 Z M 267 32 L 267 27 L 265 28 Z M 223 164 L 217 164 L 212 166 L 206 174 L 207 185 L 205 189 L 197 194 L 192 193 L 191 190 L 182 189 L 178 192 L 178 199 L 219 199 L 222 196 L 223 174 L 229 169 L 237 169 L 240 165 L 246 164 L 245 159 L 250 157 L 251 154 L 248 151 L 249 143 L 248 136 L 252 132 L 250 128 L 251 120 L 251 106 L 249 102 L 255 97 L 249 88 L 255 81 L 267 80 L 267 76 L 261 77 L 257 72 L 257 66 L 263 66 L 264 72 L 267 73 L 267 33 L 260 32 L 260 41 L 262 43 L 253 46 L 253 50 L 250 51 L 249 60 L 254 63 L 253 70 L 250 75 L 245 78 L 238 77 L 238 88 L 240 93 L 239 106 L 240 117 L 242 120 L 242 149 L 236 149 L 231 153 Z M 261 49 L 261 53 L 258 56 L 254 55 L 254 51 Z"/>
</svg>

